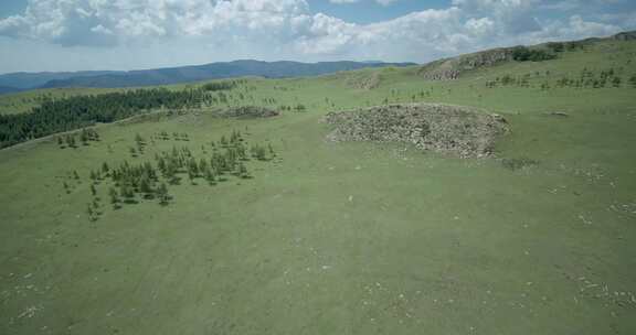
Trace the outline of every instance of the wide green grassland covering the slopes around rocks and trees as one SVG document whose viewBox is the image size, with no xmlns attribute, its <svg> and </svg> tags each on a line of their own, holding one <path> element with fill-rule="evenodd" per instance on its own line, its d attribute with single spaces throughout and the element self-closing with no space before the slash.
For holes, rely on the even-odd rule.
<svg viewBox="0 0 636 335">
<path fill-rule="evenodd" d="M 0 334 L 635 334 L 635 54 L 602 42 L 448 82 L 415 67 L 251 78 L 254 105 L 306 111 L 159 112 L 100 125 L 102 140 L 77 149 L 54 138 L 4 149 Z M 610 67 L 618 88 L 555 84 Z M 530 87 L 486 85 L 526 74 Z M 357 85 L 369 76 L 374 87 Z M 489 159 L 325 140 L 325 114 L 402 101 L 484 108 L 511 132 Z M 234 130 L 277 159 L 247 162 L 253 179 L 171 186 L 165 207 L 115 210 L 102 182 L 103 214 L 88 219 L 103 162 L 173 145 L 204 156 Z M 130 156 L 137 133 L 161 131 L 189 141 Z"/>
</svg>

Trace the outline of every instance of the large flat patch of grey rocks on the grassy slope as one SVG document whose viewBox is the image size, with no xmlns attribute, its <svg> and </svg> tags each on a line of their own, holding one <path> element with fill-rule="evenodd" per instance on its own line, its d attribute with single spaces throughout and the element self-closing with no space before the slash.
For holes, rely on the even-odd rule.
<svg viewBox="0 0 636 335">
<path fill-rule="evenodd" d="M 331 141 L 405 142 L 463 158 L 486 156 L 508 132 L 501 116 L 439 104 L 400 104 L 330 112 Z"/>
</svg>

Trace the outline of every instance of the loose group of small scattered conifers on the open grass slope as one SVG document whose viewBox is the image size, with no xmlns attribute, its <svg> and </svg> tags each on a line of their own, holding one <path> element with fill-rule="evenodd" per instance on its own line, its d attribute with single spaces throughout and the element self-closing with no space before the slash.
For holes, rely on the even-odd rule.
<svg viewBox="0 0 636 335">
<path fill-rule="evenodd" d="M 160 133 L 163 136 L 163 133 Z M 145 143 L 141 136 L 135 137 L 136 143 Z M 144 144 L 146 145 L 146 144 Z M 190 184 L 197 185 L 197 180 L 204 180 L 210 185 L 226 181 L 233 175 L 240 179 L 251 179 L 246 162 L 254 159 L 269 161 L 276 156 L 271 144 L 247 144 L 243 134 L 235 130 L 229 137 L 222 136 L 219 141 L 209 143 L 211 154 L 197 158 L 188 147 L 172 147 L 172 150 L 160 151 L 155 154 L 155 161 L 134 162 L 124 161 L 115 166 L 104 162 L 98 169 L 91 171 L 92 201 L 87 205 L 87 214 L 92 221 L 103 214 L 102 197 L 98 185 L 109 181 L 108 197 L 114 209 L 125 204 L 136 204 L 139 201 L 156 199 L 161 206 L 172 201 L 169 185 L 180 185 L 182 175 L 187 175 Z M 204 151 L 205 153 L 206 151 Z M 80 182 L 77 172 L 70 179 Z M 63 183 L 66 193 L 72 186 Z"/>
</svg>

